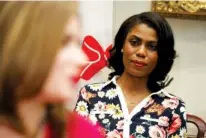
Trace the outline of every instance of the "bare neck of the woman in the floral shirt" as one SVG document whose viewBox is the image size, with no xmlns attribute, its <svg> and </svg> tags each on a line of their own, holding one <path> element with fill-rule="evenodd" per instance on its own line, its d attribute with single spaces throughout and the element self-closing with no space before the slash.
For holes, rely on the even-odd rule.
<svg viewBox="0 0 206 138">
<path fill-rule="evenodd" d="M 138 78 L 127 72 L 123 72 L 123 74 L 117 80 L 117 83 L 125 92 L 139 95 L 150 92 L 147 88 L 147 80 L 148 78 L 146 77 Z"/>
</svg>

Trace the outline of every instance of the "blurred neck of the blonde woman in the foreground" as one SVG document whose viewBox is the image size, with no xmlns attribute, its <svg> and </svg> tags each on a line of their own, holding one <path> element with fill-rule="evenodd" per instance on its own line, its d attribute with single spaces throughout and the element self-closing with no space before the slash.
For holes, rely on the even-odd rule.
<svg viewBox="0 0 206 138">
<path fill-rule="evenodd" d="M 18 114 L 29 137 L 39 137 L 46 116 L 45 105 L 36 100 L 25 100 L 18 104 Z"/>
</svg>

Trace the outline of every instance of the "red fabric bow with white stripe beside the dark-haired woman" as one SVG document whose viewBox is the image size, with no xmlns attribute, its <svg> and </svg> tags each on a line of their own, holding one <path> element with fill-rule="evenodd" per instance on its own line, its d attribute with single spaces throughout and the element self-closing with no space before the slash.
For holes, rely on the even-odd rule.
<svg viewBox="0 0 206 138">
<path fill-rule="evenodd" d="M 92 36 L 86 36 L 82 43 L 82 50 L 85 52 L 89 59 L 87 63 L 79 73 L 79 78 L 74 81 L 77 83 L 79 79 L 89 80 L 102 68 L 107 66 L 107 60 L 110 58 L 109 50 L 112 45 L 109 45 L 104 51 L 98 41 Z"/>
</svg>

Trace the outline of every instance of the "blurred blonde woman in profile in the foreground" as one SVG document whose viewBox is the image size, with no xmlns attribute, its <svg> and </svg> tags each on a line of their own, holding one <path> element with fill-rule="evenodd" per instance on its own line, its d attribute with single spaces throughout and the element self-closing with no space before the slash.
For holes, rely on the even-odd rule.
<svg viewBox="0 0 206 138">
<path fill-rule="evenodd" d="M 77 5 L 0 2 L 0 136 L 66 138 L 77 131 L 68 123 L 79 120 L 64 106 L 86 60 Z"/>
</svg>

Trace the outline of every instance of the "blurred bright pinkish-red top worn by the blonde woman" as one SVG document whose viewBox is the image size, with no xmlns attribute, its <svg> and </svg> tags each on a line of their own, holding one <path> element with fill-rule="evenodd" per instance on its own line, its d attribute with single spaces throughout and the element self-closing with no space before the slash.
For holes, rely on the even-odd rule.
<svg viewBox="0 0 206 138">
<path fill-rule="evenodd" d="M 74 114 L 68 119 L 66 138 L 104 138 L 103 129 L 92 125 L 83 117 Z M 52 131 L 49 126 L 45 128 L 45 138 L 51 138 Z"/>
</svg>

